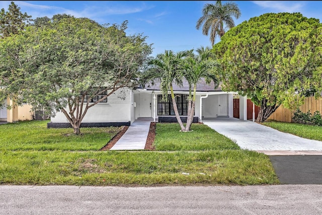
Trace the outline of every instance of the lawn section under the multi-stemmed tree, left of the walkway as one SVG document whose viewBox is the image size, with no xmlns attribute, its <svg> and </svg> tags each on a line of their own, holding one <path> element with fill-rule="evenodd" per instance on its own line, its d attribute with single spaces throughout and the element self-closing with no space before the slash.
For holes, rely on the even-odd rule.
<svg viewBox="0 0 322 215">
<path fill-rule="evenodd" d="M 23 121 L 0 125 L 0 150 L 10 151 L 92 151 L 100 150 L 120 131 L 120 127 L 47 128 L 49 120 Z"/>
</svg>

